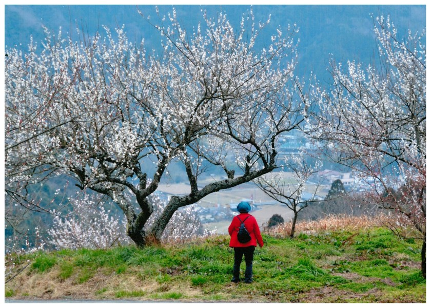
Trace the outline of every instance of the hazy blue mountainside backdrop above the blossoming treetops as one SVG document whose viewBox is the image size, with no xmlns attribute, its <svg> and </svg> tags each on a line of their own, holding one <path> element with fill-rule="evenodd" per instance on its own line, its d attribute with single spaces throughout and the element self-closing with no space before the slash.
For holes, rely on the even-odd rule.
<svg viewBox="0 0 431 308">
<path fill-rule="evenodd" d="M 223 11 L 233 25 L 238 25 L 243 13 L 250 5 L 181 5 L 175 4 L 179 20 L 185 28 L 191 29 L 202 21 L 201 9 L 211 16 Z M 171 10 L 171 5 L 159 6 L 161 14 Z M 156 20 L 154 5 L 140 5 L 145 15 Z M 368 63 L 375 55 L 376 44 L 373 35 L 374 16 L 390 15 L 391 20 L 404 34 L 407 29 L 421 31 L 426 21 L 425 5 L 253 5 L 255 21 L 266 21 L 271 14 L 270 27 L 263 35 L 269 37 L 277 26 L 283 30 L 287 24 L 296 24 L 300 32 L 298 49 L 299 64 L 296 73 L 307 75 L 310 71 L 320 74 L 327 67 L 330 54 L 339 62 L 360 60 Z M 63 35 L 74 32 L 76 25 L 94 35 L 105 33 L 102 25 L 113 29 L 125 26 L 130 40 L 145 38 L 147 48 L 158 48 L 160 35 L 134 5 L 6 5 L 5 44 L 6 48 L 17 45 L 25 49 L 30 41 L 41 42 L 44 38 L 42 25 L 56 32 L 62 27 Z M 238 28 L 238 27 L 237 27 Z M 20 47 L 20 44 L 21 47 Z"/>
</svg>

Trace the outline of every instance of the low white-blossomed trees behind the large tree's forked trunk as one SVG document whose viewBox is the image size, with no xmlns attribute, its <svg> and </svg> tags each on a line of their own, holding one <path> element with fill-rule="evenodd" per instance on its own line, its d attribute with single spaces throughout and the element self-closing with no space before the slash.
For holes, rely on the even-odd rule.
<svg viewBox="0 0 431 308">
<path fill-rule="evenodd" d="M 153 202 L 166 205 L 158 195 L 151 196 Z M 127 222 L 118 213 L 113 213 L 112 201 L 101 199 L 99 194 L 80 193 L 71 200 L 73 211 L 55 216 L 48 230 L 48 243 L 56 249 L 109 248 L 130 243 L 125 229 Z M 151 215 L 155 220 L 163 207 L 156 208 Z M 194 206 L 175 212 L 166 227 L 164 238 L 170 241 L 190 239 L 214 234 L 215 230 L 204 230 Z"/>
</svg>

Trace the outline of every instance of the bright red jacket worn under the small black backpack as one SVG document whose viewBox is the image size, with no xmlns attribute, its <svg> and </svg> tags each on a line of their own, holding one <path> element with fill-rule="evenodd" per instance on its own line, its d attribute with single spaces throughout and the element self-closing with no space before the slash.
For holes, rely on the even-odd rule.
<svg viewBox="0 0 431 308">
<path fill-rule="evenodd" d="M 249 218 L 247 218 L 250 216 Z M 238 219 L 241 218 L 242 221 L 247 218 L 246 221 L 244 221 L 245 228 L 247 229 L 248 233 L 251 236 L 251 240 L 245 244 L 240 243 L 238 241 L 238 230 L 241 226 L 241 221 Z M 229 235 L 230 235 L 230 242 L 229 247 L 248 247 L 248 246 L 257 246 L 259 244 L 260 247 L 263 246 L 263 240 L 262 236 L 260 234 L 260 229 L 258 222 L 256 221 L 256 218 L 254 216 L 248 214 L 248 213 L 240 213 L 239 215 L 233 217 L 232 222 L 229 226 Z"/>
</svg>

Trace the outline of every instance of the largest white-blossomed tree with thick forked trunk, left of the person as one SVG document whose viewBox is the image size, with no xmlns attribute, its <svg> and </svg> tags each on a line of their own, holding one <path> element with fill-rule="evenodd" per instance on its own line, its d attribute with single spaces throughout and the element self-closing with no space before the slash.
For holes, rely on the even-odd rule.
<svg viewBox="0 0 431 308">
<path fill-rule="evenodd" d="M 124 212 L 127 235 L 145 246 L 160 241 L 178 209 L 276 168 L 278 137 L 298 129 L 311 107 L 293 78 L 296 26 L 277 29 L 258 50 L 269 19 L 255 24 L 251 9 L 238 32 L 222 13 L 204 12 L 202 21 L 186 32 L 174 9 L 159 24 L 148 17 L 161 34 L 160 53 L 129 42 L 123 28 L 79 42 L 47 30 L 41 52 L 32 44 L 29 54 L 8 50 L 6 117 L 17 113 L 8 140 L 22 155 L 10 181 L 30 177 L 22 165 L 36 156 L 43 172 L 31 176 L 63 172 L 81 189 L 110 197 Z M 21 130 L 26 108 L 19 106 L 47 100 L 53 107 L 41 116 L 40 137 L 32 138 L 39 131 Z M 15 133 L 29 141 L 19 143 Z M 190 191 L 173 196 L 151 220 L 160 207 L 151 196 L 172 162 L 184 166 Z M 200 186 L 209 166 L 226 179 Z"/>
</svg>

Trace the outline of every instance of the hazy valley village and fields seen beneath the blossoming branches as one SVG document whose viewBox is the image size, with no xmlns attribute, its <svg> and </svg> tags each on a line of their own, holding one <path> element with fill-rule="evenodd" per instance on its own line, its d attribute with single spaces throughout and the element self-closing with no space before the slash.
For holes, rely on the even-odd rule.
<svg viewBox="0 0 431 308">
<path fill-rule="evenodd" d="M 306 148 L 311 152 L 317 151 L 316 146 L 309 142 L 301 132 L 281 136 L 278 148 L 279 159 L 298 155 L 301 148 Z M 308 159 L 312 161 L 312 158 Z M 284 172 L 283 178 L 293 186 L 297 184 L 293 180 L 292 172 Z M 199 186 L 202 188 L 211 181 L 223 179 L 227 179 L 227 177 L 210 174 L 206 180 L 199 182 Z M 322 168 L 307 180 L 300 201 L 324 200 L 331 184 L 336 180 L 340 180 L 348 192 L 362 192 L 375 188 L 372 179 L 364 179 L 352 171 L 336 170 L 335 164 L 327 164 L 327 168 Z M 162 183 L 159 185 L 158 191 L 169 200 L 171 196 L 189 194 L 190 186 L 186 182 Z M 265 225 L 274 214 L 281 215 L 285 221 L 289 221 L 293 215 L 286 205 L 271 199 L 253 182 L 214 192 L 193 206 L 204 227 L 208 229 L 215 227 L 219 233 L 226 233 L 232 217 L 238 214 L 237 205 L 241 201 L 250 203 L 251 213 L 256 217 L 259 225 Z"/>
</svg>

